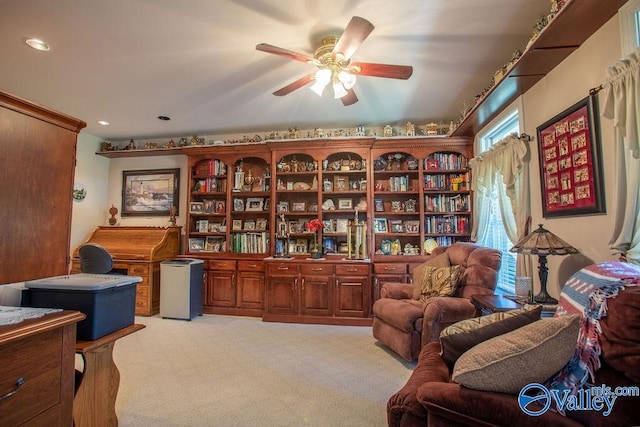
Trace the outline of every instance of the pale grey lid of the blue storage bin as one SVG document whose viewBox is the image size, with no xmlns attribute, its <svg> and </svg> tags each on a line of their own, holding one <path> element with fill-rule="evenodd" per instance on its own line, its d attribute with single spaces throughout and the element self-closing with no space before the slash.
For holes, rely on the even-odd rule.
<svg viewBox="0 0 640 427">
<path fill-rule="evenodd" d="M 114 286 L 124 286 L 139 282 L 142 282 L 142 277 L 139 276 L 80 273 L 31 280 L 25 282 L 24 285 L 30 289 L 99 291 L 102 289 L 112 288 Z"/>
</svg>

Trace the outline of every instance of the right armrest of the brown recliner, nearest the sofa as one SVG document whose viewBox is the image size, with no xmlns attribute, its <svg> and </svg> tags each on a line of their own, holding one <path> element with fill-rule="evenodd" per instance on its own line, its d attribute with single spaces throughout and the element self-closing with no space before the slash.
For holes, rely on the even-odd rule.
<svg viewBox="0 0 640 427">
<path fill-rule="evenodd" d="M 422 342 L 438 341 L 442 329 L 475 316 L 476 307 L 468 298 L 432 297 L 424 303 Z"/>
</svg>

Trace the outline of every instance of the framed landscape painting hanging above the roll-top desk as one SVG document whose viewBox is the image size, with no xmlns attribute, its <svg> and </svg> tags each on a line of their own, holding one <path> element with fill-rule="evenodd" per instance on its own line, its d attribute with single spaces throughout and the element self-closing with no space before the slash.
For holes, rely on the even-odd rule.
<svg viewBox="0 0 640 427">
<path fill-rule="evenodd" d="M 178 215 L 180 169 L 122 171 L 122 216 Z"/>
</svg>

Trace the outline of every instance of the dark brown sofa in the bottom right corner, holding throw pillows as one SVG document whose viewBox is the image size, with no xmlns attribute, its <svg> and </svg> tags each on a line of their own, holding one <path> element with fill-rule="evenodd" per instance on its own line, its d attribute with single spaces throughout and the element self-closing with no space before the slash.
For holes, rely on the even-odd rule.
<svg viewBox="0 0 640 427">
<path fill-rule="evenodd" d="M 563 301 L 562 295 L 560 301 L 561 303 Z M 600 367 L 594 372 L 593 384 L 611 387 L 613 390 L 619 386 L 638 387 L 640 386 L 640 287 L 626 286 L 616 297 L 607 299 L 607 305 L 606 316 L 599 320 L 601 332 L 597 341 L 601 350 L 598 358 Z M 556 313 L 554 318 L 548 320 L 557 320 L 560 317 L 562 316 Z M 581 318 L 579 315 L 574 317 Z M 577 327 L 577 330 L 581 331 L 580 334 L 584 330 L 584 317 L 581 319 L 582 323 L 578 323 Z M 389 425 L 424 426 L 428 424 L 430 427 L 640 425 L 640 411 L 637 409 L 640 397 L 618 397 L 608 416 L 603 415 L 603 411 L 596 410 L 568 410 L 565 415 L 546 410 L 539 416 L 530 416 L 520 408 L 519 396 L 516 393 L 474 389 L 453 381 L 453 378 L 456 378 L 455 371 L 458 370 L 458 363 L 466 354 L 483 345 L 498 350 L 504 346 L 499 343 L 508 342 L 506 338 L 508 335 L 520 333 L 526 328 L 539 325 L 539 322 L 544 320 L 533 321 L 513 332 L 498 335 L 471 347 L 471 350 L 460 356 L 454 367 L 445 360 L 446 351 L 443 351 L 443 345 L 447 345 L 445 341 L 426 344 L 420 352 L 412 375 L 404 387 L 391 396 L 387 403 Z M 480 322 L 481 318 L 477 321 Z M 571 341 L 568 342 L 571 343 Z M 569 345 L 569 352 L 573 354 L 577 353 L 580 340 L 578 344 L 575 342 L 574 339 L 573 344 Z M 555 357 L 549 357 L 549 354 Z M 557 355 L 557 350 L 546 351 L 543 353 L 542 362 L 555 363 L 555 359 L 561 358 Z M 562 372 L 562 369 L 559 372 Z M 500 382 L 511 373 L 504 373 L 503 376 L 495 373 L 493 375 L 496 377 L 494 380 Z M 541 408 L 535 402 L 531 407 Z"/>
</svg>

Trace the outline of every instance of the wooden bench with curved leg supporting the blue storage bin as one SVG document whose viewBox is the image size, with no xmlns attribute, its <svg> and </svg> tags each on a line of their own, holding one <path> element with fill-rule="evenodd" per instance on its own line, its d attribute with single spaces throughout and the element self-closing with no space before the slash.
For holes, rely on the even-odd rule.
<svg viewBox="0 0 640 427">
<path fill-rule="evenodd" d="M 73 400 L 73 424 L 76 427 L 117 426 L 116 397 L 120 371 L 113 361 L 116 341 L 145 325 L 133 324 L 95 341 L 76 341 L 76 354 L 81 354 L 84 370 L 76 378 Z"/>
</svg>

